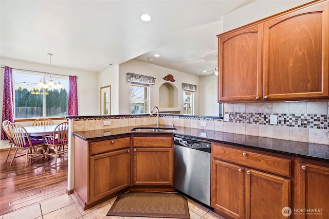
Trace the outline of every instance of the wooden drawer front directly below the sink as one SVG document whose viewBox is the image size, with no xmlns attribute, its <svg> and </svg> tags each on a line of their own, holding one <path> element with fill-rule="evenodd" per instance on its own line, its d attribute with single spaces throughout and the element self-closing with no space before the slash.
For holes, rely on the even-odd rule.
<svg viewBox="0 0 329 219">
<path fill-rule="evenodd" d="M 133 137 L 133 147 L 172 147 L 172 137 Z"/>
</svg>

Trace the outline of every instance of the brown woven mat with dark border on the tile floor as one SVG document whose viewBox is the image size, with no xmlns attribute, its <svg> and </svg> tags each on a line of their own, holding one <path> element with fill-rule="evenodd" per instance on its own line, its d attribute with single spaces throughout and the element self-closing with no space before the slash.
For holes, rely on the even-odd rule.
<svg viewBox="0 0 329 219">
<path fill-rule="evenodd" d="M 169 192 L 124 193 L 117 197 L 106 215 L 190 218 L 187 199 Z"/>
</svg>

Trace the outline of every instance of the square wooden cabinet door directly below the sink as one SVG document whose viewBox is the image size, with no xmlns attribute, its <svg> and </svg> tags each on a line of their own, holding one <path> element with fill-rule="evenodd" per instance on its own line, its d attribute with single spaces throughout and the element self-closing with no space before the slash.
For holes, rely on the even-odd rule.
<svg viewBox="0 0 329 219">
<path fill-rule="evenodd" d="M 173 149 L 135 148 L 133 184 L 135 186 L 172 186 Z"/>
</svg>

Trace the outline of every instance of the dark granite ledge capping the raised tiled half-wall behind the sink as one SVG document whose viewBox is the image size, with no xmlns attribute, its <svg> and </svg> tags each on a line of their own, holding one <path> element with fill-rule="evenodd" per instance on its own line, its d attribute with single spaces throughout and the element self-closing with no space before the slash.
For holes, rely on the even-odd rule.
<svg viewBox="0 0 329 219">
<path fill-rule="evenodd" d="M 127 114 L 127 115 L 103 115 L 103 116 L 61 116 L 65 119 L 83 119 L 83 118 L 107 118 L 107 117 L 134 117 L 134 116 L 150 116 L 150 114 Z M 155 115 L 154 115 L 155 116 Z M 211 118 L 211 119 L 223 119 L 220 116 L 192 116 L 184 114 L 170 114 L 170 113 L 160 113 L 160 116 L 174 116 L 174 117 L 192 117 L 192 118 Z"/>
</svg>

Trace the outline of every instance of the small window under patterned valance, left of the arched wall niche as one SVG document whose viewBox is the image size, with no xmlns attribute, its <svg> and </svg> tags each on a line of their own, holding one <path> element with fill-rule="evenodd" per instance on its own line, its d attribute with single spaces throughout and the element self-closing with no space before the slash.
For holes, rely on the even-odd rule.
<svg viewBox="0 0 329 219">
<path fill-rule="evenodd" d="M 147 113 L 149 106 L 149 86 L 135 84 L 130 86 L 131 114 Z"/>
</svg>

